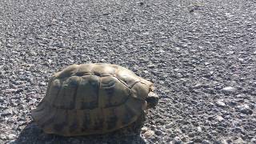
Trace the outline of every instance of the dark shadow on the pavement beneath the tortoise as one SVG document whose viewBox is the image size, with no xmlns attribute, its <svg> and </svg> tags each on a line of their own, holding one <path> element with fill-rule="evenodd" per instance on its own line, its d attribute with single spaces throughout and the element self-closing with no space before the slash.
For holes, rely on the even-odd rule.
<svg viewBox="0 0 256 144">
<path fill-rule="evenodd" d="M 63 137 L 56 134 L 45 134 L 34 122 L 30 122 L 19 134 L 18 138 L 11 144 L 146 144 L 140 134 L 104 134 L 78 137 Z"/>
</svg>

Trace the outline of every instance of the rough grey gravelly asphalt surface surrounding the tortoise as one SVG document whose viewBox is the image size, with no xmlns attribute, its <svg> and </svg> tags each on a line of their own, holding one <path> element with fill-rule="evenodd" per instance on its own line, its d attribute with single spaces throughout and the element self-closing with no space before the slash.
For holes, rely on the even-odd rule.
<svg viewBox="0 0 256 144">
<path fill-rule="evenodd" d="M 256 1 L 1 0 L 0 143 L 256 143 Z M 126 66 L 161 97 L 138 135 L 43 134 L 30 110 L 73 63 Z"/>
</svg>

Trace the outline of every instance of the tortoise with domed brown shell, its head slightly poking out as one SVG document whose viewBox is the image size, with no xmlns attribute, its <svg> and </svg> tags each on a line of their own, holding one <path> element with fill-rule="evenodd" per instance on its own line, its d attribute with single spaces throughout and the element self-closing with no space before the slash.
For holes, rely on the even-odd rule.
<svg viewBox="0 0 256 144">
<path fill-rule="evenodd" d="M 106 134 L 139 130 L 157 105 L 152 82 L 123 66 L 74 64 L 50 77 L 46 96 L 31 115 L 46 134 Z"/>
</svg>

